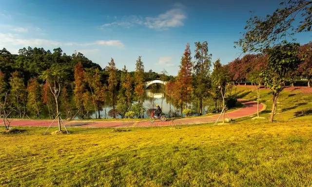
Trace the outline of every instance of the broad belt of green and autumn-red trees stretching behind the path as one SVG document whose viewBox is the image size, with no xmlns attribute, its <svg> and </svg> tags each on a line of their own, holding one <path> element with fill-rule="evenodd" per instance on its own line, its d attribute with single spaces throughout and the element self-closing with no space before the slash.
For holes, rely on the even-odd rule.
<svg viewBox="0 0 312 187">
<path fill-rule="evenodd" d="M 258 54 L 246 54 L 226 65 L 211 61 L 207 42 L 195 42 L 181 57 L 177 76 L 166 71 L 144 71 L 141 57 L 136 70 L 117 69 L 114 59 L 102 69 L 81 53 L 67 55 L 60 48 L 23 48 L 19 54 L 0 51 L 0 114 L 2 117 L 89 119 L 106 118 L 100 110 L 113 107 L 113 118 L 143 118 L 144 84 L 163 80 L 164 92 L 174 105 L 171 116 L 220 112 L 236 105 L 234 87 L 251 84 L 270 88 L 275 101 L 287 85 L 312 81 L 312 43 L 284 42 Z M 107 102 L 109 98 L 109 103 Z M 259 98 L 258 98 L 259 99 Z M 209 102 L 210 104 L 207 104 Z M 274 104 L 275 102 L 273 102 Z M 276 104 L 276 103 L 275 103 Z M 207 108 L 206 106 L 209 105 Z"/>
</svg>

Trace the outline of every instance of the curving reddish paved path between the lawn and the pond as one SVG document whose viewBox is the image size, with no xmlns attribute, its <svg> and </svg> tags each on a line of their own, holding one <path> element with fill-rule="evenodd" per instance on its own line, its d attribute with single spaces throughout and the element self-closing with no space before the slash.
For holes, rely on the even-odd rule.
<svg viewBox="0 0 312 187">
<path fill-rule="evenodd" d="M 254 101 L 246 101 L 239 99 L 238 101 L 242 102 L 244 106 L 240 109 L 227 112 L 225 114 L 226 118 L 237 119 L 246 116 L 254 115 L 257 112 L 257 103 Z M 259 110 L 263 110 L 264 105 L 259 105 Z M 158 126 L 169 126 L 169 125 L 189 125 L 189 124 L 203 124 L 215 122 L 219 117 L 219 114 L 205 117 L 195 117 L 195 118 L 182 118 L 175 120 L 167 120 L 165 122 L 155 121 L 154 123 L 145 121 L 64 121 L 66 127 L 158 127 Z M 221 120 L 221 119 L 220 119 Z M 219 121 L 220 121 L 219 120 Z M 0 125 L 3 125 L 0 121 Z M 52 120 L 30 120 L 30 119 L 16 119 L 11 122 L 11 126 L 33 126 L 33 127 L 47 127 L 51 124 Z M 57 121 L 55 121 L 52 126 L 57 126 Z"/>
</svg>

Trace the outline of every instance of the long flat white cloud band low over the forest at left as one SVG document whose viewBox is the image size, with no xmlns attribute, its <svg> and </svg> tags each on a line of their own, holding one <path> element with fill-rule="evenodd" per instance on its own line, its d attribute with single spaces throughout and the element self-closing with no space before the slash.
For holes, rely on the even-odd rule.
<svg viewBox="0 0 312 187">
<path fill-rule="evenodd" d="M 101 46 L 116 46 L 123 47 L 123 43 L 119 40 L 97 40 L 89 43 L 78 43 L 78 42 L 60 42 L 56 40 L 40 39 L 40 38 L 20 38 L 18 34 L 11 33 L 0 33 L 0 46 L 90 46 L 90 45 L 101 45 Z"/>
</svg>

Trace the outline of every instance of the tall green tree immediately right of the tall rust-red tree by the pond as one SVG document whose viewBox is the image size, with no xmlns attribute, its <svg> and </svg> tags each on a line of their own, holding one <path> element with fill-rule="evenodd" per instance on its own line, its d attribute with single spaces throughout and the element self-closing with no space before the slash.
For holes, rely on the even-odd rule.
<svg viewBox="0 0 312 187">
<path fill-rule="evenodd" d="M 198 98 L 198 109 L 197 113 L 203 113 L 203 98 L 207 96 L 210 88 L 210 67 L 211 67 L 211 56 L 208 54 L 208 43 L 195 42 L 195 66 L 194 66 L 194 92 Z"/>
</svg>

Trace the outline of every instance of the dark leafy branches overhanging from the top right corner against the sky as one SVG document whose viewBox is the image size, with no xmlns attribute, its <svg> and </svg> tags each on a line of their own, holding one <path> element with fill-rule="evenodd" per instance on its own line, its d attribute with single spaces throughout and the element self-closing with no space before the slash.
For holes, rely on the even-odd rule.
<svg viewBox="0 0 312 187">
<path fill-rule="evenodd" d="M 244 52 L 263 51 L 287 35 L 311 31 L 312 1 L 287 0 L 280 5 L 283 7 L 265 18 L 251 17 L 243 37 L 235 45 L 242 47 Z"/>
</svg>

